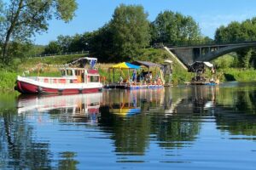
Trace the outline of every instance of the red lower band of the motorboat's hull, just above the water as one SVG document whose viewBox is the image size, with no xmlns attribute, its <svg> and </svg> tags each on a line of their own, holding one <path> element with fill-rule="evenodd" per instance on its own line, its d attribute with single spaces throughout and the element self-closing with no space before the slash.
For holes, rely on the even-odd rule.
<svg viewBox="0 0 256 170">
<path fill-rule="evenodd" d="M 17 82 L 17 90 L 21 94 L 90 94 L 101 91 L 102 88 L 67 88 L 67 89 L 55 89 L 55 88 L 38 88 L 38 86 L 27 83 Z"/>
</svg>

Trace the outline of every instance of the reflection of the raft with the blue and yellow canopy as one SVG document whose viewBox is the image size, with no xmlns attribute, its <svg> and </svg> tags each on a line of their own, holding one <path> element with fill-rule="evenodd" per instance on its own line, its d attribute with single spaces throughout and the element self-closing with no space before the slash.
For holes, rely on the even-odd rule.
<svg viewBox="0 0 256 170">
<path fill-rule="evenodd" d="M 102 106 L 119 116 L 147 114 L 148 111 L 160 109 L 164 92 L 163 89 L 109 90 L 103 94 Z M 169 98 L 172 99 L 172 95 Z"/>
</svg>

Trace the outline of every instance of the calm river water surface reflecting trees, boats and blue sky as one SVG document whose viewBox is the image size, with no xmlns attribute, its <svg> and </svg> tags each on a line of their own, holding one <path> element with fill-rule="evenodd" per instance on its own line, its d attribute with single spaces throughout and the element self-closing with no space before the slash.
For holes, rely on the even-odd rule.
<svg viewBox="0 0 256 170">
<path fill-rule="evenodd" d="M 0 169 L 255 169 L 256 84 L 0 94 Z"/>
</svg>

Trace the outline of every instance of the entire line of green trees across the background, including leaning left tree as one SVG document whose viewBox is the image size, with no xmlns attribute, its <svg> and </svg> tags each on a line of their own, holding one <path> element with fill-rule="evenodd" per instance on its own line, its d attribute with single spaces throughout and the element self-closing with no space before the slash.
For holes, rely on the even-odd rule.
<svg viewBox="0 0 256 170">
<path fill-rule="evenodd" d="M 212 40 L 201 34 L 200 26 L 191 16 L 166 10 L 150 22 L 142 5 L 120 4 L 114 9 L 111 20 L 96 31 L 74 36 L 61 35 L 44 48 L 32 44 L 31 37 L 36 32 L 46 31 L 48 20 L 54 16 L 64 21 L 72 20 L 76 8 L 75 0 L 10 0 L 9 6 L 0 3 L 0 9 L 3 9 L 0 10 L 2 63 L 38 53 L 78 51 L 90 51 L 91 56 L 102 62 L 116 62 L 136 60 L 140 49 L 159 42 L 178 45 L 195 41 L 238 42 L 256 39 L 255 18 L 220 26 Z M 255 66 L 255 54 L 253 48 L 237 51 L 234 66 Z"/>
</svg>

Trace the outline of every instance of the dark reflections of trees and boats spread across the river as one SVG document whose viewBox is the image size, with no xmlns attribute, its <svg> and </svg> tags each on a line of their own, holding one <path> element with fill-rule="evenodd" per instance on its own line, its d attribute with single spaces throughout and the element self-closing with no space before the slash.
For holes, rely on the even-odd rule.
<svg viewBox="0 0 256 170">
<path fill-rule="evenodd" d="M 252 84 L 20 95 L 17 108 L 0 107 L 0 167 L 79 167 L 84 161 L 79 156 L 82 150 L 53 151 L 50 140 L 37 137 L 40 131 L 36 127 L 41 123 L 65 128 L 83 138 L 100 132 L 96 139 L 110 139 L 113 145 L 109 147 L 119 158 L 146 156 L 152 144 L 170 151 L 192 148 L 206 123 L 212 123 L 219 132 L 232 134 L 230 139 L 255 140 L 255 101 L 256 86 Z M 131 161 L 119 158 L 118 162 Z"/>
</svg>

